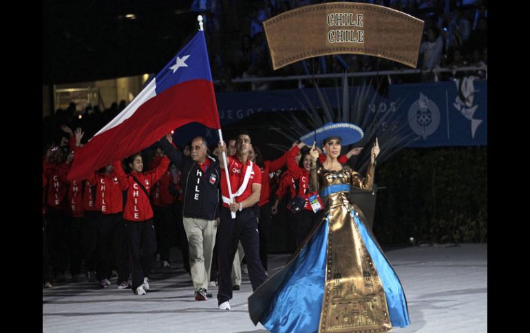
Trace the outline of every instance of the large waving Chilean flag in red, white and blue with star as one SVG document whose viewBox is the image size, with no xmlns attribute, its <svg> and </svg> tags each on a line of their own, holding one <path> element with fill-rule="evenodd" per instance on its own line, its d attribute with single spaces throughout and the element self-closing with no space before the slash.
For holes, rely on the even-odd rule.
<svg viewBox="0 0 530 333">
<path fill-rule="evenodd" d="M 199 122 L 221 128 L 204 32 L 195 37 L 109 124 L 79 148 L 68 179 L 145 149 L 175 128 Z"/>
</svg>

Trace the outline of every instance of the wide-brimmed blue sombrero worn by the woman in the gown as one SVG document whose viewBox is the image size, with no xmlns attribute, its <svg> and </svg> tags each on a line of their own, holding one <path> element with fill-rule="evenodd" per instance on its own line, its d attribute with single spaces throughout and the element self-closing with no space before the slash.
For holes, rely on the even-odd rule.
<svg viewBox="0 0 530 333">
<path fill-rule="evenodd" d="M 317 128 L 316 133 L 318 147 L 321 147 L 324 140 L 328 139 L 328 137 L 340 137 L 341 144 L 348 146 L 362 139 L 364 135 L 363 130 L 359 126 L 349 123 L 328 123 L 321 128 Z M 302 135 L 300 141 L 312 146 L 313 141 L 315 141 L 315 131 Z"/>
</svg>

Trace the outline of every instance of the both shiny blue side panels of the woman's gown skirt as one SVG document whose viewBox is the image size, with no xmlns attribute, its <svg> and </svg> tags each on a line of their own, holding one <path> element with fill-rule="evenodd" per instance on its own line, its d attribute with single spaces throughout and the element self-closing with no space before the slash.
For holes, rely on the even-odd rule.
<svg viewBox="0 0 530 333">
<path fill-rule="evenodd" d="M 409 325 L 407 301 L 394 268 L 354 210 L 350 215 L 383 284 L 392 325 Z M 290 265 L 284 281 L 259 319 L 267 330 L 273 333 L 318 332 L 326 282 L 328 218 L 329 215 Z"/>
</svg>

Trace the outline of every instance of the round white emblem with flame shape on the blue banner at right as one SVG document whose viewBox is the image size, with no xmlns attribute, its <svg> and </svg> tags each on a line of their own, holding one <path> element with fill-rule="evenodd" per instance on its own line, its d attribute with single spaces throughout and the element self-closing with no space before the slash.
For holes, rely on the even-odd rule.
<svg viewBox="0 0 530 333">
<path fill-rule="evenodd" d="M 440 125 L 438 106 L 423 93 L 420 93 L 420 98 L 410 106 L 408 118 L 412 131 L 421 135 L 423 140 L 436 132 L 438 125 Z"/>
</svg>

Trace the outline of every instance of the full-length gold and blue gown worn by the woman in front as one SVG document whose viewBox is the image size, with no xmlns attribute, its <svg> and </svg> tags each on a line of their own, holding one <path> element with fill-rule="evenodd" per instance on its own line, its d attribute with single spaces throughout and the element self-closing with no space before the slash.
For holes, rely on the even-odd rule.
<svg viewBox="0 0 530 333">
<path fill-rule="evenodd" d="M 385 332 L 410 324 L 399 278 L 362 211 L 348 199 L 350 186 L 372 189 L 347 165 L 312 168 L 310 190 L 319 191 L 324 218 L 288 264 L 248 297 L 253 323 L 271 332 Z"/>
</svg>

